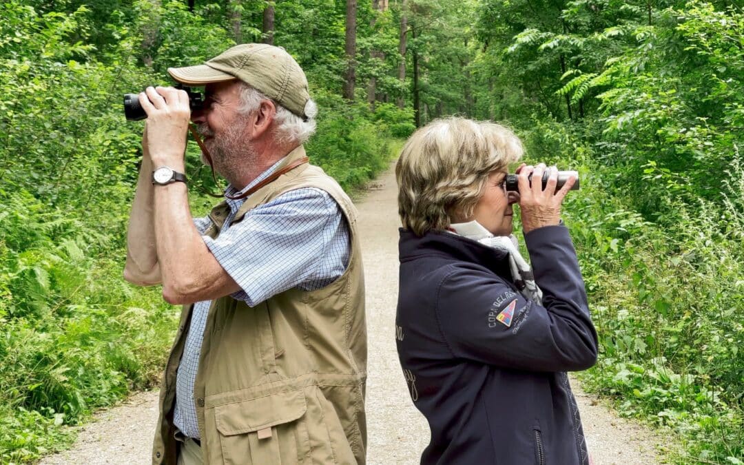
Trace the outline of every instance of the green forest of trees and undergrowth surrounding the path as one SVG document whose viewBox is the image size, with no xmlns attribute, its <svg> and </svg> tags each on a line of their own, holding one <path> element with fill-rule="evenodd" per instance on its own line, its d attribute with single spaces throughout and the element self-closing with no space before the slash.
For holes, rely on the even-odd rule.
<svg viewBox="0 0 744 465">
<path fill-rule="evenodd" d="M 179 309 L 122 278 L 141 122 L 122 95 L 243 42 L 318 102 L 315 164 L 352 192 L 418 126 L 497 121 L 578 170 L 571 230 L 600 336 L 584 388 L 744 464 L 744 9 L 674 0 L 4 0 L 0 463 L 154 388 Z M 190 143 L 192 210 L 217 191 Z"/>
</svg>

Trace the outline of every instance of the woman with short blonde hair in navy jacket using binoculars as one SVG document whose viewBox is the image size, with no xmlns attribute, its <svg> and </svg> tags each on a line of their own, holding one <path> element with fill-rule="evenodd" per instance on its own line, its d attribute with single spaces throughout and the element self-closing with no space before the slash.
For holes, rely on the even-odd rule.
<svg viewBox="0 0 744 465">
<path fill-rule="evenodd" d="M 432 440 L 422 464 L 589 464 L 566 371 L 597 360 L 576 252 L 545 164 L 507 167 L 522 143 L 498 124 L 446 118 L 397 162 L 397 349 Z M 548 171 L 548 181 L 541 182 Z M 533 269 L 519 254 L 513 204 Z M 533 271 L 534 270 L 534 271 Z"/>
</svg>

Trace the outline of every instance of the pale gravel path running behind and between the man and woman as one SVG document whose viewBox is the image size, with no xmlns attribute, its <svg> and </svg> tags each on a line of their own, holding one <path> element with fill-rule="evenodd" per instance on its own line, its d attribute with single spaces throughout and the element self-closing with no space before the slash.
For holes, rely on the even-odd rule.
<svg viewBox="0 0 744 465">
<path fill-rule="evenodd" d="M 367 389 L 368 463 L 418 464 L 429 428 L 414 408 L 395 349 L 397 301 L 396 185 L 392 170 L 371 185 L 357 203 L 365 262 L 369 363 Z M 658 434 L 619 418 L 584 394 L 574 380 L 589 452 L 595 465 L 658 464 Z M 148 464 L 157 392 L 141 392 L 97 414 L 80 429 L 74 449 L 45 458 L 43 465 Z"/>
</svg>

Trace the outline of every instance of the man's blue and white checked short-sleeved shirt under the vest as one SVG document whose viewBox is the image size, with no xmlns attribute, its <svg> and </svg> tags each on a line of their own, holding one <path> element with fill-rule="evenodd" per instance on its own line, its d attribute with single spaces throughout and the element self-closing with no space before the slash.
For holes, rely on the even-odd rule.
<svg viewBox="0 0 744 465">
<path fill-rule="evenodd" d="M 266 179 L 280 161 L 261 173 L 245 190 Z M 228 195 L 238 191 L 228 187 Z M 321 289 L 344 273 L 349 261 L 349 228 L 339 205 L 324 190 L 290 190 L 272 202 L 248 211 L 243 221 L 230 226 L 245 199 L 226 199 L 230 214 L 217 239 L 202 236 L 226 272 L 240 285 L 232 295 L 250 307 L 298 287 Z M 208 217 L 194 219 L 201 234 Z M 196 302 L 184 353 L 176 376 L 176 411 L 173 423 L 188 437 L 199 439 L 193 385 L 211 301 Z"/>
</svg>

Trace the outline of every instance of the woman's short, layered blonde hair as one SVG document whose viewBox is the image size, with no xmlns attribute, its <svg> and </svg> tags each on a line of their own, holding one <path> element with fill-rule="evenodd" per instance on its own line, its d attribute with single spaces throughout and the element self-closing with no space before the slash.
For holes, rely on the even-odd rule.
<svg viewBox="0 0 744 465">
<path fill-rule="evenodd" d="M 522 152 L 510 129 L 487 121 L 442 118 L 417 129 L 395 167 L 403 227 L 423 236 L 471 217 L 490 173 Z"/>
</svg>

